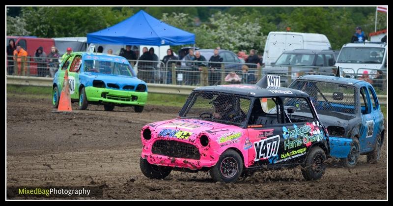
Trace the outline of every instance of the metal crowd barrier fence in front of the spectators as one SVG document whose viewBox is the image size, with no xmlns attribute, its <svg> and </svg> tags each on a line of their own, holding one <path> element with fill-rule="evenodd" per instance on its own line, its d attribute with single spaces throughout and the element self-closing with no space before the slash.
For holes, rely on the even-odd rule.
<svg viewBox="0 0 393 206">
<path fill-rule="evenodd" d="M 14 60 L 15 58 L 15 60 Z M 336 67 L 263 65 L 237 62 L 209 62 L 168 60 L 162 61 L 129 60 L 137 77 L 146 83 L 188 86 L 211 86 L 224 84 L 255 84 L 262 75 L 280 75 L 281 86 L 287 87 L 302 75 L 331 75 Z M 7 56 L 7 74 L 18 76 L 54 77 L 60 65 L 57 58 Z M 369 78 L 363 72 L 368 70 Z M 361 79 L 380 91 L 387 88 L 387 70 L 343 68 L 344 76 Z M 380 73 L 381 74 L 377 74 Z M 365 75 L 367 76 L 367 75 Z"/>
</svg>

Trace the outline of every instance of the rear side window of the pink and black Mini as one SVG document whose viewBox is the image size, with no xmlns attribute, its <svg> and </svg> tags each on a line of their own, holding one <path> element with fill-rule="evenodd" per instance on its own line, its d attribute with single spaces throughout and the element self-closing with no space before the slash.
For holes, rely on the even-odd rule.
<svg viewBox="0 0 393 206">
<path fill-rule="evenodd" d="M 285 122 L 309 122 L 314 116 L 306 98 L 286 97 L 284 100 Z"/>
</svg>

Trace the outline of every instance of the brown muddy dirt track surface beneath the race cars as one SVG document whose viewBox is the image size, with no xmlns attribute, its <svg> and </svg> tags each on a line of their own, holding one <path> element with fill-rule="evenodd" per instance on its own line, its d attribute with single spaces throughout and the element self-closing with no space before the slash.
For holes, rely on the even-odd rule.
<svg viewBox="0 0 393 206">
<path fill-rule="evenodd" d="M 140 128 L 175 118 L 179 108 L 76 107 L 59 114 L 49 99 L 7 94 L 7 186 L 102 186 L 103 199 L 387 199 L 386 141 L 378 164 L 361 155 L 356 168 L 330 165 L 316 181 L 305 181 L 299 168 L 230 184 L 206 172 L 153 180 L 140 172 Z"/>
</svg>

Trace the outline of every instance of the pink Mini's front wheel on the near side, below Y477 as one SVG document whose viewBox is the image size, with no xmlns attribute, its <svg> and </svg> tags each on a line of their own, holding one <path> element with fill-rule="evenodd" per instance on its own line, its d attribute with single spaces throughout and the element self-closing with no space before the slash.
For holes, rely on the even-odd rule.
<svg viewBox="0 0 393 206">
<path fill-rule="evenodd" d="M 234 182 L 243 172 L 243 161 L 239 153 L 233 149 L 221 154 L 217 164 L 210 169 L 210 176 L 214 181 Z"/>
</svg>

